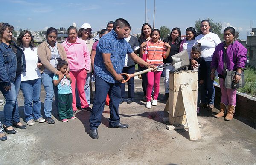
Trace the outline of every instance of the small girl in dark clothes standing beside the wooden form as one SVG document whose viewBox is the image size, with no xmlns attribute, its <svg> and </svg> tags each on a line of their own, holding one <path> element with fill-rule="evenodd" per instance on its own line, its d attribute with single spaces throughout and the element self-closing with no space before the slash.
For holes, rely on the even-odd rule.
<svg viewBox="0 0 256 165">
<path fill-rule="evenodd" d="M 197 114 L 199 114 L 199 104 L 201 101 L 201 94 L 204 88 L 204 80 L 206 77 L 206 63 L 203 57 L 200 57 L 201 54 L 201 43 L 192 47 L 191 50 L 191 59 L 194 59 L 198 62 L 198 68 L 193 68 L 194 71 L 198 71 L 198 102 L 197 102 Z M 192 66 L 190 65 L 192 68 Z"/>
</svg>

